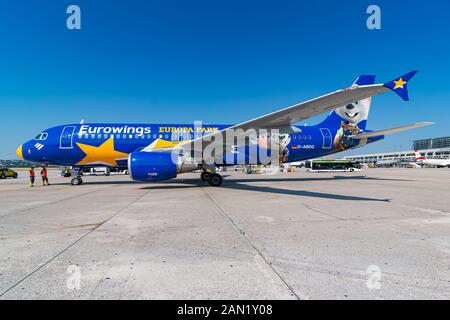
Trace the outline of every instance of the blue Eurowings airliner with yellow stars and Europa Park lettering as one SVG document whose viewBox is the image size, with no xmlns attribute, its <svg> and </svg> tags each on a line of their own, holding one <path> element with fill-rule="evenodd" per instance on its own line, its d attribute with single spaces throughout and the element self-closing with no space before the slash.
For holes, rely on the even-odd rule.
<svg viewBox="0 0 450 320">
<path fill-rule="evenodd" d="M 431 124 L 422 122 L 381 131 L 366 130 L 372 97 L 392 90 L 407 101 L 408 82 L 415 74 L 416 71 L 412 71 L 384 84 L 375 84 L 375 76 L 360 76 L 351 87 L 238 125 L 89 123 L 57 126 L 21 145 L 17 155 L 45 165 L 72 166 L 78 172 L 83 166 L 128 167 L 132 179 L 148 182 L 201 169 L 202 180 L 220 186 L 222 177 L 216 173 L 216 167 L 270 164 L 260 157 L 251 157 L 248 145 L 235 143 L 224 144 L 223 152 L 214 153 L 212 158 L 206 155 L 211 141 L 239 130 L 276 130 L 277 156 L 285 163 L 361 147 L 383 139 L 385 134 Z M 330 111 L 327 118 L 315 126 L 295 126 L 299 121 Z M 257 136 L 257 147 L 267 148 L 267 140 L 261 143 L 264 140 L 261 138 L 271 138 L 271 134 Z M 192 152 L 193 144 L 200 145 L 199 153 Z M 71 183 L 79 185 L 82 179 L 77 176 Z"/>
</svg>

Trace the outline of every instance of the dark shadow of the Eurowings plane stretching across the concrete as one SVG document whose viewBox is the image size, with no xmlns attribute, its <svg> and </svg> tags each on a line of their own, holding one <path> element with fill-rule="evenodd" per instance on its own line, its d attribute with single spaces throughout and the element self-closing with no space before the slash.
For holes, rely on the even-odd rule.
<svg viewBox="0 0 450 320">
<path fill-rule="evenodd" d="M 224 176 L 226 177 L 226 176 Z M 234 189 L 234 190 L 246 190 L 246 191 L 257 191 L 257 192 L 267 192 L 275 194 L 293 195 L 300 197 L 313 197 L 313 198 L 325 198 L 334 200 L 346 200 L 346 201 L 377 201 L 377 202 L 390 202 L 390 199 L 376 199 L 358 196 L 348 196 L 341 194 L 323 193 L 307 190 L 291 190 L 291 189 L 280 189 L 268 186 L 258 186 L 251 184 L 252 182 L 289 182 L 289 181 L 325 181 L 325 180 L 352 180 L 352 179 L 363 179 L 363 180 L 394 180 L 394 181 L 408 181 L 408 180 L 396 180 L 396 179 L 379 179 L 370 178 L 365 176 L 355 176 L 355 177 L 331 177 L 331 178 L 267 178 L 267 179 L 232 179 L 224 180 L 220 188 Z M 248 183 L 248 184 L 247 184 Z M 188 184 L 188 185 L 186 185 Z M 146 190 L 170 190 L 170 189 L 187 189 L 187 188 L 197 188 L 208 186 L 206 182 L 199 179 L 178 179 L 169 180 L 164 184 L 154 184 L 145 186 L 142 189 Z M 209 187 L 209 186 L 208 186 Z"/>
</svg>

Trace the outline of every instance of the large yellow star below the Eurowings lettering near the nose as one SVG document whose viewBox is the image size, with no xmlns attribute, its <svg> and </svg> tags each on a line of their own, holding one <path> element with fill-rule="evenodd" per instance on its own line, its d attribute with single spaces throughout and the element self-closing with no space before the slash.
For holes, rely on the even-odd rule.
<svg viewBox="0 0 450 320">
<path fill-rule="evenodd" d="M 78 142 L 77 146 L 86 154 L 86 156 L 78 162 L 77 165 L 102 163 L 116 167 L 116 159 L 128 157 L 127 153 L 119 152 L 114 149 L 113 137 L 109 138 L 98 147 Z"/>
</svg>

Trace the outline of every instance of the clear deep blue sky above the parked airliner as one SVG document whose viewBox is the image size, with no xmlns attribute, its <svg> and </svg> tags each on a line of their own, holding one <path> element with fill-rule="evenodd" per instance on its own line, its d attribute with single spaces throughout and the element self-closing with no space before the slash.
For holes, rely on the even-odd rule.
<svg viewBox="0 0 450 320">
<path fill-rule="evenodd" d="M 81 7 L 80 31 L 66 28 L 70 4 Z M 370 4 L 381 7 L 380 31 L 366 28 Z M 0 159 L 81 119 L 235 123 L 359 74 L 388 81 L 412 69 L 411 102 L 376 97 L 368 128 L 437 124 L 358 152 L 450 135 L 449 12 L 441 0 L 2 0 Z"/>
</svg>

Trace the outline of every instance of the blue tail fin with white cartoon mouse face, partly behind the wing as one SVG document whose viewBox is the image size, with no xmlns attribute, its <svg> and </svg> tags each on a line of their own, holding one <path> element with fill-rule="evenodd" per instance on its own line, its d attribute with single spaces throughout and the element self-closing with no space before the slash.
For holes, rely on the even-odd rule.
<svg viewBox="0 0 450 320">
<path fill-rule="evenodd" d="M 366 86 L 372 84 L 375 84 L 375 76 L 361 75 L 355 80 L 353 86 Z M 335 125 L 340 127 L 341 122 L 346 122 L 357 125 L 361 130 L 365 130 L 371 103 L 372 98 L 367 98 L 337 108 L 328 115 L 321 125 L 328 127 Z"/>
</svg>

